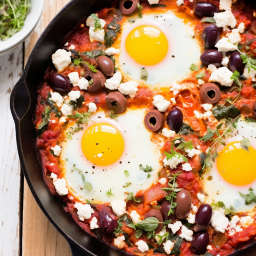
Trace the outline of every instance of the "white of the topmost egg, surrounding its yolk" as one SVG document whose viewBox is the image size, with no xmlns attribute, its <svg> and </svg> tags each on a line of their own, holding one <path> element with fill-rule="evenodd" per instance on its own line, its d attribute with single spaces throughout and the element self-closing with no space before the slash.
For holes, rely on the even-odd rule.
<svg viewBox="0 0 256 256">
<path fill-rule="evenodd" d="M 140 80 L 141 64 L 137 63 L 127 53 L 125 48 L 126 37 L 139 26 L 153 26 L 166 36 L 168 52 L 165 58 L 153 66 L 144 66 L 149 73 L 148 79 L 143 82 L 151 87 L 169 87 L 173 82 L 183 80 L 191 74 L 189 70 L 192 63 L 199 63 L 201 48 L 196 38 L 193 38 L 194 28 L 185 24 L 174 13 L 167 12 L 161 15 L 143 14 L 143 17 L 135 19 L 135 23 L 126 22 L 122 25 L 121 53 L 119 68 L 127 77 L 135 81 Z M 150 52 L 148 54 L 151 54 Z M 172 57 L 172 56 L 175 57 Z"/>
</svg>

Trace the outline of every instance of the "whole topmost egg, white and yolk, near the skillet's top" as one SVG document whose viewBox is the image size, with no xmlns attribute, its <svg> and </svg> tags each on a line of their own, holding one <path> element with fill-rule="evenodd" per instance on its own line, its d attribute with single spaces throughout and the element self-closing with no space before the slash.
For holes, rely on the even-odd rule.
<svg viewBox="0 0 256 256">
<path fill-rule="evenodd" d="M 143 14 L 134 23 L 127 20 L 122 24 L 118 66 L 127 78 L 140 82 L 144 67 L 147 86 L 169 87 L 191 74 L 191 64 L 200 61 L 201 48 L 193 35 L 191 24 L 172 12 Z"/>
</svg>

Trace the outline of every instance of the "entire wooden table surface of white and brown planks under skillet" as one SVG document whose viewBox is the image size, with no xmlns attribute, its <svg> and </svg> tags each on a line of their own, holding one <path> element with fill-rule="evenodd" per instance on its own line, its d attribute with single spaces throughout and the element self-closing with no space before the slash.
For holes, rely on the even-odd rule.
<svg viewBox="0 0 256 256">
<path fill-rule="evenodd" d="M 20 172 L 10 94 L 33 46 L 69 0 L 45 0 L 44 12 L 26 42 L 0 56 L 0 255 L 71 256 L 66 240 L 37 206 Z"/>
</svg>

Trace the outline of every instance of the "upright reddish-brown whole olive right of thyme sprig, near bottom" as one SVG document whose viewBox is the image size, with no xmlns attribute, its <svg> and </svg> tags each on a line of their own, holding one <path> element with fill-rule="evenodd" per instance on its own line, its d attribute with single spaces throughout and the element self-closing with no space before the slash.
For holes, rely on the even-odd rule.
<svg viewBox="0 0 256 256">
<path fill-rule="evenodd" d="M 186 189 L 181 189 L 177 193 L 176 198 L 177 206 L 175 208 L 175 216 L 179 220 L 184 220 L 188 217 L 191 210 L 192 197 L 191 194 Z"/>
</svg>

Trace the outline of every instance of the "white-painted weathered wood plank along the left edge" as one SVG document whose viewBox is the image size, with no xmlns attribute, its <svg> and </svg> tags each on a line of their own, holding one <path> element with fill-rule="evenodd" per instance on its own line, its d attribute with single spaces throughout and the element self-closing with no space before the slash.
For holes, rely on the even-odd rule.
<svg viewBox="0 0 256 256">
<path fill-rule="evenodd" d="M 0 255 L 19 255 L 20 166 L 10 111 L 12 88 L 23 71 L 23 45 L 0 56 Z M 21 199 L 22 200 L 22 199 Z"/>
</svg>

